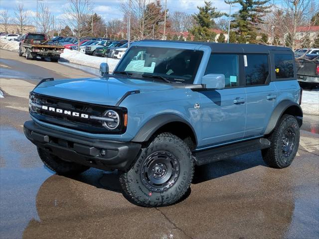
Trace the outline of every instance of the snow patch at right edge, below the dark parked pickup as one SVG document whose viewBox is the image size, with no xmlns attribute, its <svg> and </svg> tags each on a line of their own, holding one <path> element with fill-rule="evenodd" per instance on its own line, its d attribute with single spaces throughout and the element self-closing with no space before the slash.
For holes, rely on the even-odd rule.
<svg viewBox="0 0 319 239">
<path fill-rule="evenodd" d="M 305 115 L 319 116 L 319 91 L 303 91 L 301 103 Z"/>
</svg>

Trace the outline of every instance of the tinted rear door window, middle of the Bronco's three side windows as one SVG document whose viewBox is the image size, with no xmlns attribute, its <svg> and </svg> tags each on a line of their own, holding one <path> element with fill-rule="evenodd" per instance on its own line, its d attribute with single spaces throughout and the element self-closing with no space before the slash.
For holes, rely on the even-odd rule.
<svg viewBox="0 0 319 239">
<path fill-rule="evenodd" d="M 246 55 L 245 76 L 246 86 L 264 85 L 269 75 L 268 55 Z"/>
</svg>

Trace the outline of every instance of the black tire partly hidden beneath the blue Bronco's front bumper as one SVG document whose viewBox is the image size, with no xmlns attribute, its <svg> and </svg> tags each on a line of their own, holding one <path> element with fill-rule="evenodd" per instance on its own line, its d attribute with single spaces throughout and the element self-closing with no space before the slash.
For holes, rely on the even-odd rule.
<svg viewBox="0 0 319 239">
<path fill-rule="evenodd" d="M 38 154 L 46 167 L 59 175 L 77 175 L 88 170 L 90 167 L 73 162 L 67 162 L 50 154 L 48 151 L 37 148 Z"/>
</svg>

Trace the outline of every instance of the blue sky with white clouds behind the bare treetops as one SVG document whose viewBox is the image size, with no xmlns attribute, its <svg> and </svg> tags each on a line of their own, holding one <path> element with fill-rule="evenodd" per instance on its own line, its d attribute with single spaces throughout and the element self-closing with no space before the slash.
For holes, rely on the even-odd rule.
<svg viewBox="0 0 319 239">
<path fill-rule="evenodd" d="M 94 11 L 103 16 L 105 20 L 122 18 L 122 12 L 119 9 L 120 0 L 91 0 L 94 5 Z M 129 0 L 126 0 L 129 2 Z M 164 0 L 161 0 L 164 4 Z M 23 2 L 26 10 L 30 10 L 33 15 L 36 12 L 36 0 L 0 0 L 0 9 L 7 9 L 11 16 L 14 15 L 14 9 L 17 3 Z M 40 2 L 40 0 L 39 0 Z M 63 9 L 67 6 L 67 0 L 43 0 L 47 2 L 50 10 L 57 18 L 62 18 Z M 229 5 L 224 0 L 211 0 L 218 10 L 229 11 Z M 188 13 L 197 12 L 197 5 L 204 5 L 204 0 L 167 0 L 169 12 L 184 11 Z M 238 5 L 238 4 L 237 4 Z M 239 7 L 233 7 L 233 11 Z"/>
</svg>

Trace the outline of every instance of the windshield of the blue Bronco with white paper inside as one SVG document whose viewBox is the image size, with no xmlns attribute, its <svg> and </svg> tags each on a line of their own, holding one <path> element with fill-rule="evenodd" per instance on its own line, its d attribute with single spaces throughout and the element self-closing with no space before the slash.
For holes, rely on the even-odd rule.
<svg viewBox="0 0 319 239">
<path fill-rule="evenodd" d="M 194 50 L 131 47 L 115 72 L 127 72 L 147 80 L 160 77 L 170 82 L 192 84 L 202 55 L 202 51 Z"/>
</svg>

